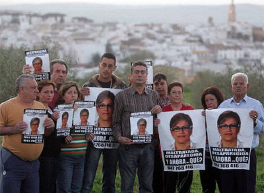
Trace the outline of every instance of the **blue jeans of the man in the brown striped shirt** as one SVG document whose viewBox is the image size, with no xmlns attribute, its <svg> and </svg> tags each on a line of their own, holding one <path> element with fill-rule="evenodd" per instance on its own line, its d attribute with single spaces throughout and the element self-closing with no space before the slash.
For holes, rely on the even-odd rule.
<svg viewBox="0 0 264 193">
<path fill-rule="evenodd" d="M 154 144 L 120 146 L 118 161 L 121 193 L 133 192 L 136 170 L 138 170 L 139 192 L 153 192 Z"/>
</svg>

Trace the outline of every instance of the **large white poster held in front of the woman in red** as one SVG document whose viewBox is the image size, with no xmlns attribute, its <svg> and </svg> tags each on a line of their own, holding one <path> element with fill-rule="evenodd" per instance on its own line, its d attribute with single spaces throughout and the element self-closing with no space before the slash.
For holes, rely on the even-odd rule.
<svg viewBox="0 0 264 193">
<path fill-rule="evenodd" d="M 158 113 L 164 171 L 205 169 L 205 118 L 202 110 Z"/>
</svg>

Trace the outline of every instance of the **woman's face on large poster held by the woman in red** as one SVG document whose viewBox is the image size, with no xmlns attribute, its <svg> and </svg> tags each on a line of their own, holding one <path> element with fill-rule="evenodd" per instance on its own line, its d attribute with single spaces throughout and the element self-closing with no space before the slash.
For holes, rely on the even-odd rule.
<svg viewBox="0 0 264 193">
<path fill-rule="evenodd" d="M 172 128 L 174 131 L 171 131 L 171 135 L 173 136 L 175 142 L 183 144 L 190 143 L 192 129 L 190 129 L 190 125 L 186 120 L 182 119 L 177 123 L 174 123 Z"/>
</svg>

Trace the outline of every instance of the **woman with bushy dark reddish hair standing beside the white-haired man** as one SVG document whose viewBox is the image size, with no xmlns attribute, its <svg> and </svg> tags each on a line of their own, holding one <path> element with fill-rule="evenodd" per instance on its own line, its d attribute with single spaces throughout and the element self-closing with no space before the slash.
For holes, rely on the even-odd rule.
<svg viewBox="0 0 264 193">
<path fill-rule="evenodd" d="M 208 87 L 202 92 L 201 102 L 202 106 L 204 107 L 204 110 L 216 109 L 223 101 L 224 94 L 217 87 Z M 202 192 L 214 192 L 216 187 L 215 181 L 218 183 L 218 174 L 217 169 L 212 166 L 207 135 L 205 147 L 205 170 L 200 170 Z"/>
</svg>

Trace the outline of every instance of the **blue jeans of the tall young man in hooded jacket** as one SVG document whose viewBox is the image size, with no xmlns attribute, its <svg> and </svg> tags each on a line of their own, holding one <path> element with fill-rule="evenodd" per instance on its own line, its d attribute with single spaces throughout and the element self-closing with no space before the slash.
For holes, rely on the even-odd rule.
<svg viewBox="0 0 264 193">
<path fill-rule="evenodd" d="M 101 153 L 103 153 L 102 192 L 115 193 L 117 149 L 96 149 L 91 142 L 88 142 L 86 152 L 82 187 L 83 193 L 90 193 L 92 191 Z"/>
</svg>

